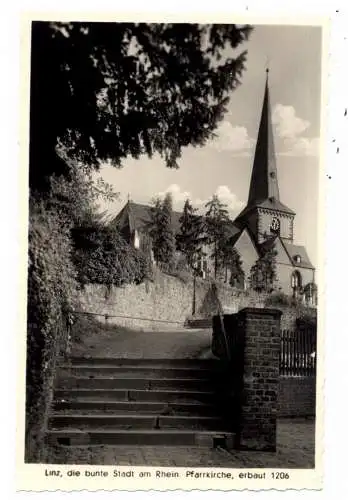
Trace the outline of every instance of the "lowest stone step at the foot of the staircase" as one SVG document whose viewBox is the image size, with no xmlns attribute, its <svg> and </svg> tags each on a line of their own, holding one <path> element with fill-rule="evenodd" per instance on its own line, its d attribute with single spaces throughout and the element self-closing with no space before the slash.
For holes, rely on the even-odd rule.
<svg viewBox="0 0 348 500">
<path fill-rule="evenodd" d="M 235 433 L 194 430 L 51 430 L 48 441 L 61 446 L 135 445 L 135 446 L 223 446 L 234 448 Z"/>
</svg>

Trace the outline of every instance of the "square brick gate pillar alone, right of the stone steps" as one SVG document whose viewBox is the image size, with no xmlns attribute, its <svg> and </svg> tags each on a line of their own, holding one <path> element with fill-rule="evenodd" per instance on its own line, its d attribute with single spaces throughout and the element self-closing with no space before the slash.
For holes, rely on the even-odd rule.
<svg viewBox="0 0 348 500">
<path fill-rule="evenodd" d="M 275 451 L 279 384 L 280 317 L 276 309 L 238 312 L 242 336 L 238 447 Z"/>
</svg>

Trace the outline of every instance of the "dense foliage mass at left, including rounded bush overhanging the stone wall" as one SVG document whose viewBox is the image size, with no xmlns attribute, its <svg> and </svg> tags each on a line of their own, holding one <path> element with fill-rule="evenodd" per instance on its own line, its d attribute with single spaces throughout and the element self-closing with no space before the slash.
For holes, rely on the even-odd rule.
<svg viewBox="0 0 348 500">
<path fill-rule="evenodd" d="M 69 177 L 52 176 L 46 200 L 30 199 L 26 460 L 44 462 L 44 432 L 55 365 L 67 352 L 69 314 L 81 283 L 139 282 L 146 260 L 97 213 L 108 186 L 69 166 Z M 88 243 L 87 244 L 87 240 Z M 79 246 L 80 244 L 80 246 Z M 81 248 L 81 245 L 83 248 Z"/>
</svg>

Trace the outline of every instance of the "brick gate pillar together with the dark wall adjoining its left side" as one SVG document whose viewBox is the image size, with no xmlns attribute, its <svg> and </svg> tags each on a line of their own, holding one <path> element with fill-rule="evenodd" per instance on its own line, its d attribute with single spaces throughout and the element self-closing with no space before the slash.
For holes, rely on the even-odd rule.
<svg viewBox="0 0 348 500">
<path fill-rule="evenodd" d="M 237 447 L 275 451 L 281 312 L 245 308 L 213 319 L 212 350 L 231 368 Z"/>
</svg>

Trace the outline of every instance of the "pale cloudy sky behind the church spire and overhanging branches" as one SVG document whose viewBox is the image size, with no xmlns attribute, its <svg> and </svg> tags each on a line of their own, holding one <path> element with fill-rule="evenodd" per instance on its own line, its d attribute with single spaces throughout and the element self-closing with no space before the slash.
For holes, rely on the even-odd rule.
<svg viewBox="0 0 348 500">
<path fill-rule="evenodd" d="M 243 47 L 244 48 L 244 47 Z M 280 198 L 292 208 L 295 240 L 317 262 L 321 31 L 305 26 L 256 26 L 242 85 L 232 94 L 217 137 L 202 148 L 186 148 L 179 170 L 164 162 L 129 159 L 122 169 L 105 167 L 102 177 L 119 192 L 103 205 L 116 214 L 126 203 L 149 203 L 171 191 L 180 210 L 189 197 L 199 208 L 217 193 L 235 217 L 245 206 L 268 65 Z"/>
</svg>

